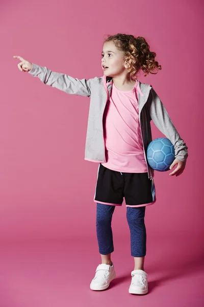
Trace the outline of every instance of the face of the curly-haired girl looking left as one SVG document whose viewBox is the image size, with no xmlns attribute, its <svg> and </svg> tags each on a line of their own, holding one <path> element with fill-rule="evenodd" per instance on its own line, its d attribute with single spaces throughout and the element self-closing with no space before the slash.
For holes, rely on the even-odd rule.
<svg viewBox="0 0 204 307">
<path fill-rule="evenodd" d="M 113 41 L 104 43 L 104 49 L 101 56 L 101 66 L 105 76 L 117 77 L 126 70 L 124 54 L 116 48 Z M 108 68 L 104 68 L 104 66 Z"/>
</svg>

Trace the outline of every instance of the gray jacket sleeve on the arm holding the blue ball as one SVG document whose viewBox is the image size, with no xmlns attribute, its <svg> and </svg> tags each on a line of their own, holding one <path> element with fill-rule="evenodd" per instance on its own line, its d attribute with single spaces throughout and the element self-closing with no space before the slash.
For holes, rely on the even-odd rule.
<svg viewBox="0 0 204 307">
<path fill-rule="evenodd" d="M 186 146 L 186 143 L 184 143 L 184 140 L 180 137 L 166 111 L 165 106 L 153 88 L 151 88 L 149 92 L 148 100 L 150 119 L 152 119 L 157 128 L 174 145 L 175 159 L 185 162 L 188 158 L 188 147 Z"/>
</svg>

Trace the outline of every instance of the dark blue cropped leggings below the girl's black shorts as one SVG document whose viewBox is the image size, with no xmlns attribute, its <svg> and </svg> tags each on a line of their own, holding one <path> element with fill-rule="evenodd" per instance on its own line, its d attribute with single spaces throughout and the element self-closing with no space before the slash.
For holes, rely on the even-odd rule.
<svg viewBox="0 0 204 307">
<path fill-rule="evenodd" d="M 144 224 L 146 206 L 126 208 L 127 223 L 131 233 L 131 256 L 143 257 L 146 255 L 146 228 Z M 115 206 L 97 203 L 96 233 L 99 253 L 102 255 L 107 255 L 114 251 L 111 228 L 114 210 Z"/>
</svg>

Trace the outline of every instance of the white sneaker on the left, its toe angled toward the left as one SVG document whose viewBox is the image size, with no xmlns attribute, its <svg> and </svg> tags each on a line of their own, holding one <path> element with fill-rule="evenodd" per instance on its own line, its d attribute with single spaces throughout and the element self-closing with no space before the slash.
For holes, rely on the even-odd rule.
<svg viewBox="0 0 204 307">
<path fill-rule="evenodd" d="M 92 279 L 90 288 L 91 290 L 105 290 L 109 287 L 111 280 L 115 278 L 115 269 L 106 264 L 100 264 L 95 271 L 95 277 Z"/>
</svg>

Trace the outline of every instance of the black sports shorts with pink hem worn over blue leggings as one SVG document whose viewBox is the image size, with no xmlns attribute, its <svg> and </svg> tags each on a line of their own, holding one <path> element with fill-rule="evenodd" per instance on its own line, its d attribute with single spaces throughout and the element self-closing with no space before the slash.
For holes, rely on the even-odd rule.
<svg viewBox="0 0 204 307">
<path fill-rule="evenodd" d="M 94 202 L 126 207 L 141 207 L 156 202 L 154 179 L 148 173 L 127 173 L 111 170 L 101 163 L 98 167 Z"/>
</svg>

